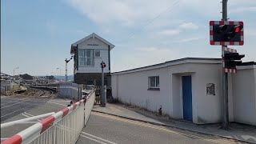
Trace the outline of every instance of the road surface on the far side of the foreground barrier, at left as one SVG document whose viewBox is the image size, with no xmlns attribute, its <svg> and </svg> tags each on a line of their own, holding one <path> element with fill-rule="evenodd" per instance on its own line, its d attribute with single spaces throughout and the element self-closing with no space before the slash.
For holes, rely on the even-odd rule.
<svg viewBox="0 0 256 144">
<path fill-rule="evenodd" d="M 1 97 L 1 123 L 12 122 L 50 112 L 58 112 L 65 108 L 68 102 L 70 102 L 70 100 L 60 98 Z M 9 138 L 33 124 L 34 123 L 18 124 L 1 129 L 1 138 Z"/>
</svg>

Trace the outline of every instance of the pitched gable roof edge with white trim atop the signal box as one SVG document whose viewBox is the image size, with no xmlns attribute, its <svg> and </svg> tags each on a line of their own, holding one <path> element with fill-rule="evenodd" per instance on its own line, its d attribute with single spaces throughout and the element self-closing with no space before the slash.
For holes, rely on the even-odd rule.
<svg viewBox="0 0 256 144">
<path fill-rule="evenodd" d="M 74 48 L 81 42 L 84 42 L 86 41 L 87 39 L 89 38 L 98 38 L 99 40 L 101 40 L 102 42 L 106 43 L 108 46 L 110 46 L 110 50 L 112 50 L 114 48 L 114 45 L 110 42 L 107 42 L 104 38 L 98 36 L 97 34 L 93 33 L 93 34 L 90 34 L 88 35 L 86 38 L 82 38 L 81 40 L 79 40 L 78 42 L 74 42 L 72 45 L 71 45 L 71 49 L 70 49 L 70 53 L 71 54 L 74 54 Z"/>
</svg>

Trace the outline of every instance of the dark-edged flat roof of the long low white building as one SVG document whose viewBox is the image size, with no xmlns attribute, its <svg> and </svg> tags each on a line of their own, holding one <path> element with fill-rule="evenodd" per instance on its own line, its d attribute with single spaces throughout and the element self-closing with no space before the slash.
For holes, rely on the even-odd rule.
<svg viewBox="0 0 256 144">
<path fill-rule="evenodd" d="M 111 73 L 111 75 L 134 73 L 134 72 L 143 71 L 143 70 L 154 70 L 154 69 L 158 69 L 166 66 L 174 66 L 174 65 L 184 64 L 184 63 L 222 64 L 222 58 L 180 58 L 180 59 L 162 62 L 162 63 L 150 65 L 150 66 L 138 67 L 131 70 L 122 70 L 122 71 Z"/>
</svg>

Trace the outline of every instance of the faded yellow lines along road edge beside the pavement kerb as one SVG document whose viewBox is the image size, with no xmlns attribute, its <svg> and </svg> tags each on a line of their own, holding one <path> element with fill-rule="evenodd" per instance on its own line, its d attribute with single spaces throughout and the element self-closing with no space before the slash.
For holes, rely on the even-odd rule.
<svg viewBox="0 0 256 144">
<path fill-rule="evenodd" d="M 166 131 L 166 132 L 172 133 L 172 134 L 181 134 L 183 136 L 190 137 L 190 138 L 198 138 L 198 139 L 205 140 L 208 142 L 217 142 L 217 143 L 223 143 L 223 144 L 236 143 L 235 140 L 231 140 L 231 139 L 204 138 L 204 137 L 196 135 L 196 134 L 187 134 L 185 132 L 170 130 L 170 129 L 166 128 L 166 126 L 157 126 L 157 125 L 153 125 L 153 124 L 146 123 L 146 122 L 138 122 L 138 121 L 134 121 L 134 120 L 126 119 L 126 118 L 120 118 L 120 117 L 113 116 L 110 114 L 102 114 L 102 113 L 97 113 L 97 112 L 91 112 L 91 114 L 101 116 L 104 118 L 114 119 L 117 121 L 131 123 L 131 124 L 138 125 L 138 126 L 145 126 L 145 127 L 149 127 L 149 128 L 155 129 L 155 130 L 162 130 L 162 131 Z M 206 135 L 206 137 L 208 137 L 208 136 Z"/>
</svg>

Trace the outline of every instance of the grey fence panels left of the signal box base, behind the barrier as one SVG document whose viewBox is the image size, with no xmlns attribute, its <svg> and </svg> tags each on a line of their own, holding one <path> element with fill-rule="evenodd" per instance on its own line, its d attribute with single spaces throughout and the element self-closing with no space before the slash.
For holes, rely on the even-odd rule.
<svg viewBox="0 0 256 144">
<path fill-rule="evenodd" d="M 59 84 L 59 97 L 60 98 L 70 98 L 79 100 L 79 85 L 71 82 L 62 82 Z"/>
</svg>

